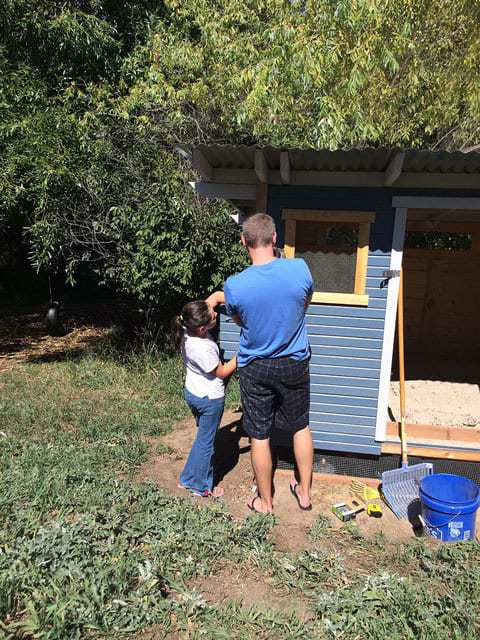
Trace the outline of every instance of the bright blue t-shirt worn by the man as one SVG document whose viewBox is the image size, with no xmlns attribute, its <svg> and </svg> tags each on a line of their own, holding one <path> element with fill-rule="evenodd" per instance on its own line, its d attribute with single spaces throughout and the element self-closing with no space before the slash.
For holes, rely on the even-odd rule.
<svg viewBox="0 0 480 640">
<path fill-rule="evenodd" d="M 312 276 L 301 259 L 276 258 L 228 278 L 225 307 L 242 323 L 239 367 L 256 358 L 310 356 L 305 305 L 312 291 Z"/>
</svg>

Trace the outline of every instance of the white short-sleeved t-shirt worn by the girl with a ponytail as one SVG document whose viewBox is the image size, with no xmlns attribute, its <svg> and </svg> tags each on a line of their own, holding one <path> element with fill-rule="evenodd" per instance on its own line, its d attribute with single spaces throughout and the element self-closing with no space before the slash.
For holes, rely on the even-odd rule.
<svg viewBox="0 0 480 640">
<path fill-rule="evenodd" d="M 220 363 L 217 343 L 207 333 L 205 338 L 189 336 L 185 331 L 181 352 L 187 375 L 185 387 L 198 398 L 207 396 L 210 400 L 223 398 L 225 385 L 221 378 L 210 373 Z"/>
</svg>

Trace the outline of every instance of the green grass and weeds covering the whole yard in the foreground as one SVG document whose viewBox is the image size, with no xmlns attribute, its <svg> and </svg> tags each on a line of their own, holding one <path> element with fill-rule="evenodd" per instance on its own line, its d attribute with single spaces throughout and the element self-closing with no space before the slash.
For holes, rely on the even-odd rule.
<svg viewBox="0 0 480 640">
<path fill-rule="evenodd" d="M 238 522 L 221 503 L 135 482 L 145 437 L 187 415 L 181 378 L 177 358 L 114 353 L 3 374 L 0 637 L 478 637 L 477 543 L 395 546 L 320 516 L 309 548 L 285 554 L 272 517 Z M 189 581 L 215 580 L 227 560 L 310 616 L 207 604 Z"/>
</svg>

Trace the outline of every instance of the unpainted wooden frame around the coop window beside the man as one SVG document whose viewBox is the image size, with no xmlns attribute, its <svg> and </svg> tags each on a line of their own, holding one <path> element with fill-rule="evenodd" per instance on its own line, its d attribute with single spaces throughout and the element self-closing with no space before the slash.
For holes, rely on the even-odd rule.
<svg viewBox="0 0 480 640">
<path fill-rule="evenodd" d="M 368 306 L 365 293 L 367 283 L 368 250 L 370 245 L 370 227 L 375 222 L 372 211 L 326 211 L 321 209 L 284 209 L 282 219 L 285 223 L 286 258 L 295 257 L 295 236 L 297 222 L 353 222 L 358 224 L 357 259 L 355 263 L 355 282 L 353 293 L 335 293 L 315 291 L 312 302 L 317 304 L 347 304 Z"/>
</svg>

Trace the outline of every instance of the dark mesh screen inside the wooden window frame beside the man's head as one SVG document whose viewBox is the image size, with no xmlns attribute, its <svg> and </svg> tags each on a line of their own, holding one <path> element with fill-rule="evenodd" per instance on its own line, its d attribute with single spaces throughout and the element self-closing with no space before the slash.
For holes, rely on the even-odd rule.
<svg viewBox="0 0 480 640">
<path fill-rule="evenodd" d="M 310 268 L 315 291 L 352 293 L 358 224 L 297 221 L 295 257 Z"/>
</svg>

